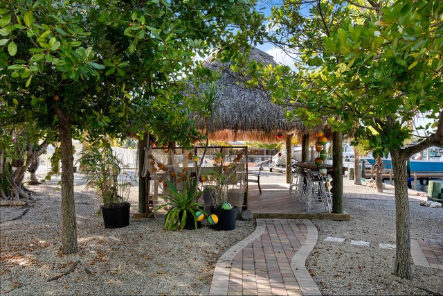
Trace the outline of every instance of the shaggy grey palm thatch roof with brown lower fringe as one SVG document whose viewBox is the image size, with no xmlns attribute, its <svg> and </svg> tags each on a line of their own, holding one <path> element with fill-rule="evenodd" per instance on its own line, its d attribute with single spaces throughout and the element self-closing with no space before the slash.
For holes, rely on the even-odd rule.
<svg viewBox="0 0 443 296">
<path fill-rule="evenodd" d="M 273 57 L 259 49 L 251 48 L 249 61 L 264 65 L 276 63 Z M 209 139 L 213 141 L 248 140 L 274 143 L 276 135 L 312 133 L 301 121 L 285 119 L 283 107 L 273 104 L 271 96 L 258 87 L 248 87 L 248 76 L 234 72 L 230 62 L 221 63 L 213 58 L 204 66 L 221 72 L 217 82 L 218 100 L 209 119 Z M 205 130 L 204 119 L 197 119 L 197 126 Z M 320 130 L 318 127 L 316 130 Z"/>
</svg>

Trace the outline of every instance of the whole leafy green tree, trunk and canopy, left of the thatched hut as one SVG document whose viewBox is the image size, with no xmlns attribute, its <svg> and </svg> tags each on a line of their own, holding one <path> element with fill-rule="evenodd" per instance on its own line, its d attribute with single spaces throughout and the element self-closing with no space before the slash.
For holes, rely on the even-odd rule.
<svg viewBox="0 0 443 296">
<path fill-rule="evenodd" d="M 195 56 L 247 42 L 262 26 L 253 6 L 249 0 L 0 3 L 0 107 L 15 122 L 58 132 L 65 254 L 78 251 L 73 137 L 143 132 L 146 119 L 156 123 L 152 110 L 164 106 L 166 120 L 180 121 L 173 114 L 186 105 L 177 98 Z"/>
</svg>

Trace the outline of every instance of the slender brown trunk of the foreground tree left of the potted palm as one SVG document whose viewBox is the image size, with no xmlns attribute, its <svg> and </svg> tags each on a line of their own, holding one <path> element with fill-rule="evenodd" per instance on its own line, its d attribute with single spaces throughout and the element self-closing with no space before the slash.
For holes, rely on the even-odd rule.
<svg viewBox="0 0 443 296">
<path fill-rule="evenodd" d="M 60 150 L 62 154 L 62 252 L 78 252 L 77 221 L 74 202 L 74 164 L 72 150 L 71 120 L 60 107 L 55 107 L 58 118 L 57 130 L 60 133 Z"/>
</svg>

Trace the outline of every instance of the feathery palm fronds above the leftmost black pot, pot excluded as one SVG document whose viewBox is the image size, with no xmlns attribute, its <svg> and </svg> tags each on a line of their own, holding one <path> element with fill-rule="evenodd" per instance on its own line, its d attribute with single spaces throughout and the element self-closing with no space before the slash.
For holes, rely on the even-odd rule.
<svg viewBox="0 0 443 296">
<path fill-rule="evenodd" d="M 114 155 L 111 147 L 89 146 L 82 151 L 79 162 L 87 181 L 87 188 L 96 189 L 97 195 L 102 199 L 103 207 L 115 207 L 127 203 L 124 193 L 132 182 L 127 181 L 129 175 L 121 173 L 123 164 Z"/>
</svg>

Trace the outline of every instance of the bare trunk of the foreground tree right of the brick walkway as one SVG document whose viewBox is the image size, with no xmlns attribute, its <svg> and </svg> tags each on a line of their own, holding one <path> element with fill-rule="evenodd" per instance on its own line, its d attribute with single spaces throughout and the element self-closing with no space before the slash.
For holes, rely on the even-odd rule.
<svg viewBox="0 0 443 296">
<path fill-rule="evenodd" d="M 395 254 L 395 275 L 402 279 L 411 279 L 410 269 L 410 233 L 409 200 L 406 177 L 406 155 L 400 150 L 391 150 L 392 169 L 395 182 L 395 216 L 397 230 L 397 250 Z"/>
</svg>

